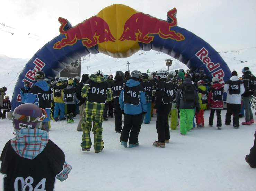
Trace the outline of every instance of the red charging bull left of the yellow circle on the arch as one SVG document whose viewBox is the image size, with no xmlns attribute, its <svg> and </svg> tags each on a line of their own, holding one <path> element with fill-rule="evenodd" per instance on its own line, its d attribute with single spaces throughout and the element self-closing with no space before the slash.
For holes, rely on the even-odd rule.
<svg viewBox="0 0 256 191">
<path fill-rule="evenodd" d="M 97 20 L 101 23 L 98 24 Z M 67 31 L 63 30 L 63 28 L 68 22 L 67 19 L 59 17 L 58 21 L 61 23 L 59 31 L 61 34 L 65 34 L 65 38 L 61 39 L 61 41 L 56 42 L 53 46 L 54 49 L 61 49 L 62 47 L 65 47 L 67 45 L 72 46 L 77 42 L 77 40 L 82 40 L 82 39 L 87 39 L 82 41 L 83 46 L 87 48 L 93 47 L 98 43 L 107 42 L 107 41 L 115 42 L 116 40 L 111 34 L 109 26 L 106 23 L 106 21 L 104 21 L 102 18 L 97 16 L 92 16 L 91 18 L 84 20 L 83 22 L 68 29 Z M 90 21 L 93 21 L 93 22 L 90 22 Z M 91 26 L 91 24 L 94 24 L 94 26 Z M 81 26 L 83 31 L 79 30 L 79 26 Z M 104 26 L 105 26 L 105 29 L 104 29 Z M 88 28 L 88 30 L 86 30 L 86 27 Z M 104 30 L 104 31 L 101 31 L 101 30 Z M 94 39 L 94 41 L 92 41 L 92 39 Z"/>
</svg>

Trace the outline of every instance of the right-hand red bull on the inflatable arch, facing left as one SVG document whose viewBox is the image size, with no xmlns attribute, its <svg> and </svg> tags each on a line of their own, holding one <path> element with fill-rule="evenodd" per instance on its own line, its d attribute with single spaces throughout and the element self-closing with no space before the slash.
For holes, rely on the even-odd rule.
<svg viewBox="0 0 256 191">
<path fill-rule="evenodd" d="M 177 9 L 174 8 L 167 13 L 171 23 L 141 12 L 135 13 L 125 22 L 124 32 L 119 40 L 133 40 L 148 44 L 153 41 L 155 34 L 163 39 L 184 40 L 185 37 L 182 34 L 171 30 L 171 27 L 177 25 L 177 19 L 174 16 L 176 12 Z"/>
</svg>

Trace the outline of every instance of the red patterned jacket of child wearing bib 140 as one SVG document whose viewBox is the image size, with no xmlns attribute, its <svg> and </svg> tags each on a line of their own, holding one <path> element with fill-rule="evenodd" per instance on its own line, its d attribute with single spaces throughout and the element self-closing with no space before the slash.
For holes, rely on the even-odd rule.
<svg viewBox="0 0 256 191">
<path fill-rule="evenodd" d="M 212 85 L 207 100 L 208 104 L 210 104 L 211 109 L 223 109 L 223 91 L 224 88 L 221 86 L 220 83 L 214 83 Z"/>
</svg>

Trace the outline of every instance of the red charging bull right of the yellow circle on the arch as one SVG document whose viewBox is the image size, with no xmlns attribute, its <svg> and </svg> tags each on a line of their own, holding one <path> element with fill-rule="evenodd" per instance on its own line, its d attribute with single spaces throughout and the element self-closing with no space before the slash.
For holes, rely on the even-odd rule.
<svg viewBox="0 0 256 191">
<path fill-rule="evenodd" d="M 170 39 L 173 39 L 173 40 L 176 40 L 176 41 L 182 41 L 182 40 L 185 39 L 185 37 L 182 34 L 176 33 L 175 31 L 171 30 L 171 27 L 174 27 L 174 26 L 177 25 L 177 18 L 174 16 L 174 14 L 176 12 L 177 12 L 177 9 L 173 8 L 172 10 L 168 11 L 168 13 L 167 13 L 168 17 L 171 20 L 173 20 L 173 22 L 171 22 L 171 23 L 169 23 L 165 20 L 157 19 L 156 17 L 152 17 L 148 14 L 144 14 L 144 13 L 141 13 L 141 12 L 135 13 L 125 22 L 124 32 L 118 40 L 120 40 L 120 41 L 134 40 L 134 41 L 138 41 L 138 42 L 148 44 L 148 43 L 153 41 L 153 39 L 154 39 L 153 35 L 158 34 L 159 37 L 161 37 L 162 39 L 170 38 Z M 141 17 L 141 18 L 139 18 L 139 17 Z M 139 20 L 142 20 L 140 22 L 145 22 L 144 19 L 157 22 L 156 24 L 159 24 L 159 28 L 156 27 L 156 29 L 155 29 L 155 25 L 154 25 L 152 33 L 147 29 L 143 31 L 143 29 L 144 29 L 144 28 L 142 28 L 143 25 L 142 24 L 137 24 L 137 23 L 139 22 Z M 130 22 L 130 21 L 134 21 L 134 20 L 136 20 L 136 23 L 131 23 Z M 169 34 L 168 33 L 163 33 L 163 31 L 161 32 L 160 26 L 163 25 L 162 23 L 167 23 L 169 25 L 169 31 L 168 31 L 168 32 L 170 32 Z M 147 24 L 150 25 L 150 24 L 152 24 L 152 22 L 149 21 L 149 23 L 147 23 Z M 131 26 L 131 28 L 133 28 L 132 31 L 130 31 L 130 26 Z M 140 30 L 139 27 L 142 28 L 142 29 Z M 158 29 L 158 31 L 156 31 L 157 29 Z M 126 32 L 128 30 L 130 32 L 128 32 L 128 37 L 127 37 Z M 130 36 L 129 36 L 129 34 L 130 34 Z M 138 34 L 138 36 L 136 36 L 136 34 Z"/>
</svg>

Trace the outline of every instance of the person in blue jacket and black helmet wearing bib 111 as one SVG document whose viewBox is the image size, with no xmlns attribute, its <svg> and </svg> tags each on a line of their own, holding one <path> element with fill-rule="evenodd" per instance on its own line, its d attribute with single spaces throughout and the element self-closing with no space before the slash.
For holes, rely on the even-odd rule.
<svg viewBox="0 0 256 191">
<path fill-rule="evenodd" d="M 47 113 L 47 117 L 43 119 L 43 125 L 45 130 L 49 132 L 50 125 L 50 110 L 51 110 L 51 90 L 47 82 L 44 81 L 45 74 L 43 71 L 37 71 L 35 73 L 36 83 L 31 87 L 27 94 L 27 99 L 24 103 L 34 103 L 38 107 L 44 109 Z"/>
</svg>

